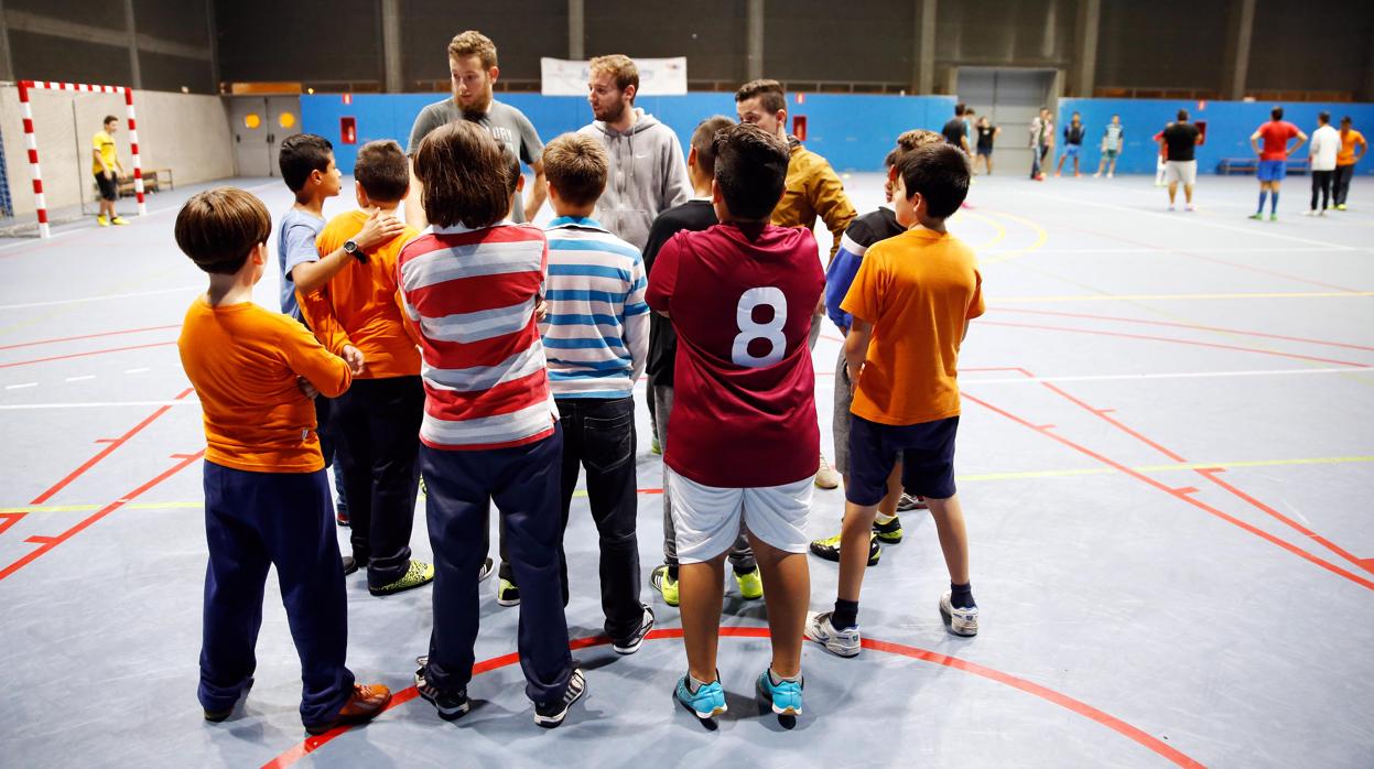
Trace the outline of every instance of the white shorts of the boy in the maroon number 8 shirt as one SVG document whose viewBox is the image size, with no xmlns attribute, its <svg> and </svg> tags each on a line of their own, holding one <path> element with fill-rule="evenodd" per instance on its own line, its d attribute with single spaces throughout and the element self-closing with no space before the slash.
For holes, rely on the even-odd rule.
<svg viewBox="0 0 1374 769">
<path fill-rule="evenodd" d="M 743 529 L 779 551 L 807 552 L 813 477 L 782 486 L 721 489 L 664 470 L 673 500 L 679 563 L 703 563 L 728 552 Z"/>
</svg>

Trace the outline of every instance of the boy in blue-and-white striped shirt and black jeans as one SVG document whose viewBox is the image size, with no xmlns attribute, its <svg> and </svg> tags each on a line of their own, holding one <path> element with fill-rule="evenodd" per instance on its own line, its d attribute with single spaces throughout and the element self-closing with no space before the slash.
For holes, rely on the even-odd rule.
<svg viewBox="0 0 1374 769">
<path fill-rule="evenodd" d="M 610 158 L 589 136 L 565 133 L 544 148 L 548 202 L 548 316 L 539 324 L 548 380 L 563 424 L 563 529 L 577 475 L 600 534 L 600 593 L 611 648 L 633 654 L 654 626 L 639 601 L 635 533 L 635 380 L 649 357 L 649 305 L 639 249 L 591 218 Z M 559 548 L 563 603 L 567 559 Z"/>
</svg>

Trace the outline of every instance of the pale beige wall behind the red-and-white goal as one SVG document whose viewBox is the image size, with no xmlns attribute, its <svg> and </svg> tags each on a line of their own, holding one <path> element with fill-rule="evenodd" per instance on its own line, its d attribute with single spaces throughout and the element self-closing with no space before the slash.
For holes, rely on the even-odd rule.
<svg viewBox="0 0 1374 769">
<path fill-rule="evenodd" d="M 91 137 L 100 130 L 104 115 L 120 118 L 114 140 L 120 162 L 133 173 L 122 95 L 29 91 L 29 103 L 33 108 L 43 191 L 49 211 L 77 206 L 82 196 L 93 205 Z M 234 176 L 232 136 L 218 96 L 135 91 L 133 107 L 137 111 L 139 152 L 143 155 L 146 177 L 151 176 L 151 169 L 159 168 L 172 169 L 177 184 Z M 4 130 L 10 198 L 14 200 L 15 217 L 23 218 L 33 214 L 34 200 L 19 91 L 12 85 L 0 88 L 0 126 Z M 148 202 L 150 206 L 155 205 L 157 198 Z M 132 203 L 121 202 L 120 210 L 126 209 L 132 210 Z"/>
</svg>

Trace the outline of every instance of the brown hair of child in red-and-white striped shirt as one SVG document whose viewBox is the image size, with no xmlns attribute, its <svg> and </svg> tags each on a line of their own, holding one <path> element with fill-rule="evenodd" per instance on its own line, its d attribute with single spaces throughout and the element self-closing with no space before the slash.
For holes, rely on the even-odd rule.
<svg viewBox="0 0 1374 769">
<path fill-rule="evenodd" d="M 415 152 L 415 177 L 425 217 L 437 227 L 491 227 L 510 210 L 502 147 L 477 124 L 456 121 L 431 130 Z"/>
</svg>

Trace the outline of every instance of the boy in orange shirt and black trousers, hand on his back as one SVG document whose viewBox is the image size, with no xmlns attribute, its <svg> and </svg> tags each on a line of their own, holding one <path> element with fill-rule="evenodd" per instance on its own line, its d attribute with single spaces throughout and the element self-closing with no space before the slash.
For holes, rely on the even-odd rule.
<svg viewBox="0 0 1374 769">
<path fill-rule="evenodd" d="M 297 288 L 297 299 L 315 336 L 360 369 L 334 411 L 352 519 L 345 574 L 365 567 L 368 592 L 386 596 L 434 579 L 433 564 L 411 559 L 425 386 L 418 338 L 396 294 L 396 258 L 416 232 L 404 227 L 370 250 L 354 240 L 409 191 L 408 162 L 396 141 L 359 148 L 353 176 L 359 209 L 335 216 L 316 239 L 322 261 L 339 250 L 349 258 L 319 288 Z"/>
</svg>

